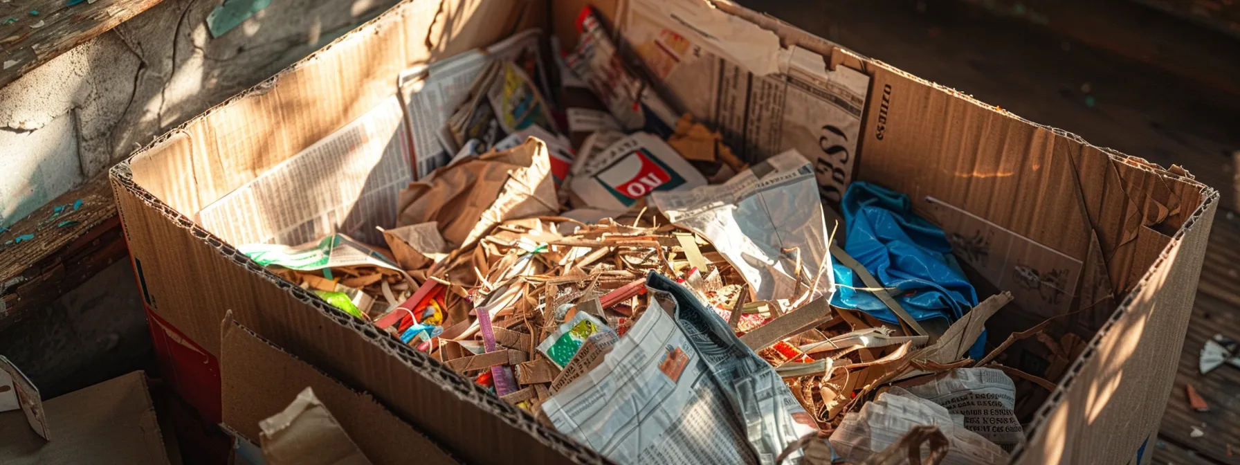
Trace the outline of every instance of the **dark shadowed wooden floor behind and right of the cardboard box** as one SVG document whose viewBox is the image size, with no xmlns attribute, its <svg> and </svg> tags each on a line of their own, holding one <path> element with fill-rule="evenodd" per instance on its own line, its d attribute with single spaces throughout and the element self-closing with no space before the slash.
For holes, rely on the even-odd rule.
<svg viewBox="0 0 1240 465">
<path fill-rule="evenodd" d="M 1169 399 L 1149 399 L 1166 402 L 1167 409 L 1159 439 L 1146 451 L 1152 450 L 1154 464 L 1240 464 L 1240 368 L 1224 366 L 1205 376 L 1197 368 L 1203 343 L 1215 332 L 1240 339 L 1240 215 L 1234 213 L 1240 205 L 1236 181 L 1240 155 L 1234 155 L 1240 150 L 1240 95 L 1210 87 L 1210 79 L 1187 78 L 1183 69 L 1151 66 L 1151 55 L 1185 53 L 1198 66 L 1210 68 L 1210 61 L 1229 61 L 1240 53 L 1240 40 L 1219 35 L 1209 46 L 1182 43 L 1183 48 L 1177 50 L 1174 31 L 1184 25 L 1154 24 L 1159 15 L 1122 0 L 1084 4 L 1091 5 L 1090 15 L 1115 19 L 1107 27 L 1161 31 L 1164 37 L 1156 40 L 1162 48 L 1133 51 L 1123 43 L 1100 42 L 1107 36 L 1073 36 L 1079 25 L 1064 25 L 1070 21 L 1060 20 L 1065 11 L 1070 12 L 1073 2 L 1059 0 L 1018 1 L 1025 10 L 1019 17 L 935 0 L 744 4 L 1027 119 L 1164 166 L 1182 165 L 1218 188 L 1223 201 L 1210 234 L 1179 374 Z M 1003 0 L 977 4 L 993 7 Z M 1099 12 L 1112 7 L 1114 11 Z M 1043 17 L 1038 11 L 1056 15 Z M 1030 22 L 1029 17 L 1040 20 Z M 1127 26 L 1117 26 L 1123 22 L 1121 19 L 1128 21 Z M 1199 36 L 1194 41 L 1200 41 Z M 1223 52 L 1204 55 L 1203 50 Z M 1240 82 L 1235 76 L 1229 78 Z M 1188 405 L 1187 383 L 1207 399 L 1210 412 L 1198 413 Z M 1205 434 L 1192 438 L 1193 425 Z M 1228 444 L 1234 456 L 1228 455 Z"/>
</svg>

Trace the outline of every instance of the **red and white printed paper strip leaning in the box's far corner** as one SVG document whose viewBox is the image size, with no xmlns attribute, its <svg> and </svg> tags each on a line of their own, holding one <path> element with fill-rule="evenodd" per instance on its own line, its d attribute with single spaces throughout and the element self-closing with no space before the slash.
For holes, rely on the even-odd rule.
<svg viewBox="0 0 1240 465">
<path fill-rule="evenodd" d="M 625 130 L 671 134 L 680 112 L 624 63 L 590 6 L 582 11 L 577 29 L 582 31 L 580 42 L 565 58 L 577 77 L 590 86 Z"/>
</svg>

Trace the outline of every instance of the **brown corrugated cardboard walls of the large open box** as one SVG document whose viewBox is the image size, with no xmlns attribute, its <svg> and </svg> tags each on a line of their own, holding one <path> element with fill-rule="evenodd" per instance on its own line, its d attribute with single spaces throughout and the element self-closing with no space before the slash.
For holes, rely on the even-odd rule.
<svg viewBox="0 0 1240 465">
<path fill-rule="evenodd" d="M 232 310 L 258 335 L 373 394 L 470 463 L 605 461 L 423 353 L 280 280 L 190 219 L 377 105 L 392 94 L 402 69 L 528 26 L 551 29 L 570 46 L 585 4 L 402 2 L 118 165 L 112 181 L 149 311 L 213 363 L 229 351 L 228 340 L 221 345 L 219 322 Z M 590 4 L 616 15 L 616 1 Z M 729 4 L 718 7 L 775 31 L 785 45 L 818 52 L 827 66 L 872 77 L 856 179 L 909 193 L 920 213 L 949 232 L 972 228 L 1009 237 L 1014 260 L 1035 263 L 1053 252 L 1079 263 L 1071 301 L 1058 314 L 1071 314 L 1075 331 L 1094 336 L 1039 409 L 1027 429 L 1028 444 L 1013 460 L 1118 463 L 1133 456 L 1157 428 L 1171 391 L 1218 192 L 1176 166 L 1162 169 L 1091 146 L 773 17 Z M 937 203 L 924 202 L 926 197 Z M 946 215 L 935 205 L 968 215 Z M 1040 321 L 1040 315 L 1013 316 Z M 222 372 L 227 386 L 258 382 L 257 376 Z M 270 413 L 288 403 L 260 392 L 248 397 Z"/>
</svg>

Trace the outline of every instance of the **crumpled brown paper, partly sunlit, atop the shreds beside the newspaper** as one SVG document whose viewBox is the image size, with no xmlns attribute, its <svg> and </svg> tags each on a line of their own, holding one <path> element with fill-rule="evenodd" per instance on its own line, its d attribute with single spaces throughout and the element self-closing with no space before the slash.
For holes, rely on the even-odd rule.
<svg viewBox="0 0 1240 465">
<path fill-rule="evenodd" d="M 547 145 L 531 138 L 410 182 L 401 191 L 397 226 L 438 222 L 448 246 L 460 248 L 503 221 L 554 215 L 558 205 Z"/>
</svg>

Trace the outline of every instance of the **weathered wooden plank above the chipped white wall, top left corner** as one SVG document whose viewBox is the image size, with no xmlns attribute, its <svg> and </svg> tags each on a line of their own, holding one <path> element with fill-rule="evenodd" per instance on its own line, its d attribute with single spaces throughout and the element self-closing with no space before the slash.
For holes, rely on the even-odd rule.
<svg viewBox="0 0 1240 465">
<path fill-rule="evenodd" d="M 0 4 L 0 87 L 162 0 L 10 0 Z M 37 27 L 36 27 L 37 26 Z"/>
</svg>

